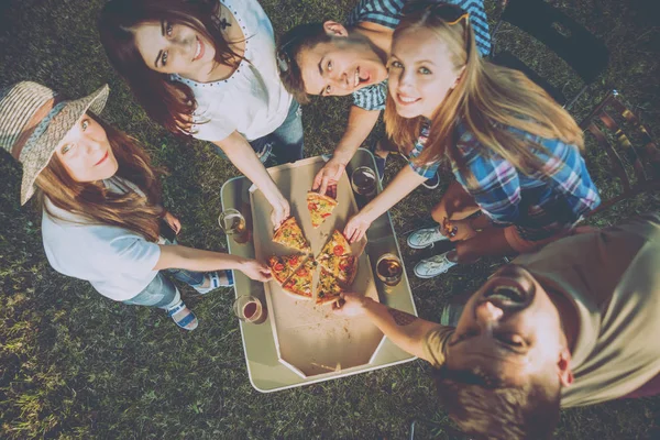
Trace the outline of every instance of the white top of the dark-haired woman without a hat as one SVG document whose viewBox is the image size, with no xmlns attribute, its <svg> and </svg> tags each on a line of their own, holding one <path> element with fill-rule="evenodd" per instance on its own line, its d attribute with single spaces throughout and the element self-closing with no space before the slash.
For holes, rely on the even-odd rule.
<svg viewBox="0 0 660 440">
<path fill-rule="evenodd" d="M 292 95 L 279 79 L 271 20 L 256 0 L 220 0 L 241 25 L 245 53 L 233 75 L 213 82 L 197 82 L 172 75 L 195 94 L 194 138 L 222 141 L 234 131 L 248 141 L 274 132 L 286 119 Z M 206 123 L 204 123 L 206 122 Z"/>
</svg>

